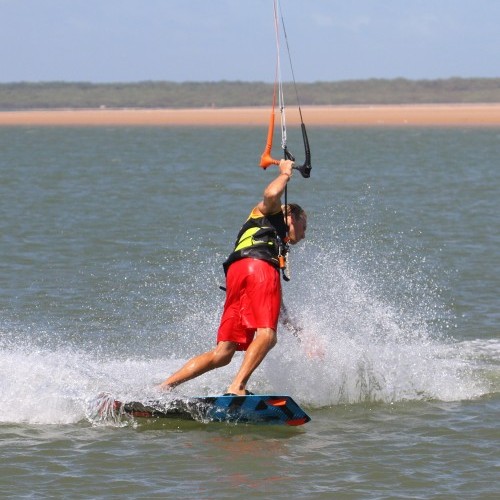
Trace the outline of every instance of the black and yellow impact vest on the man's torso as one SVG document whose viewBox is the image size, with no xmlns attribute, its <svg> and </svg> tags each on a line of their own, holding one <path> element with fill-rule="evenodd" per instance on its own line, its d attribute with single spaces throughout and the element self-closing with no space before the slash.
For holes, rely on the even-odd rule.
<svg viewBox="0 0 500 500">
<path fill-rule="evenodd" d="M 271 263 L 279 269 L 279 255 L 285 251 L 287 227 L 283 212 L 256 216 L 252 213 L 240 229 L 234 250 L 224 262 L 224 272 L 237 260 L 251 257 Z"/>
</svg>

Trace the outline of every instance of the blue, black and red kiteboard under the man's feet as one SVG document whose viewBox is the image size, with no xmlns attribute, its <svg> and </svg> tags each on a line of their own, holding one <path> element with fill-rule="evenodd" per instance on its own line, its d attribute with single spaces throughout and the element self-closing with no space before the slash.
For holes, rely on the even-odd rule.
<svg viewBox="0 0 500 500">
<path fill-rule="evenodd" d="M 114 410 L 134 418 L 202 422 L 302 425 L 311 420 L 290 396 L 206 396 L 146 402 L 114 402 Z"/>
</svg>

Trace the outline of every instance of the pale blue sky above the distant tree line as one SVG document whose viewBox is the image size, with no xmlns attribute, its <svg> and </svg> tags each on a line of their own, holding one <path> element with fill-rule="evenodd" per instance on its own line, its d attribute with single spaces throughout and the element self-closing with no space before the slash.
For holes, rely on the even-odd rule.
<svg viewBox="0 0 500 500">
<path fill-rule="evenodd" d="M 500 77 L 500 0 L 280 4 L 298 82 Z M 272 6 L 0 0 L 0 82 L 273 81 Z"/>
</svg>

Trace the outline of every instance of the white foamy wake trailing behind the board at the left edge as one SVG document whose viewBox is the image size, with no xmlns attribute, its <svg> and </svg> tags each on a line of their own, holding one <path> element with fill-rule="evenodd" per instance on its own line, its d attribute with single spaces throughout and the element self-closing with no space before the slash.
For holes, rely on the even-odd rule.
<svg viewBox="0 0 500 500">
<path fill-rule="evenodd" d="M 72 424 L 103 391 L 122 399 L 154 394 L 170 360 L 103 359 L 74 349 L 0 350 L 0 422 Z"/>
</svg>

